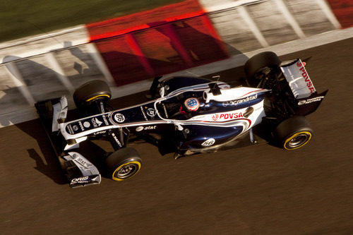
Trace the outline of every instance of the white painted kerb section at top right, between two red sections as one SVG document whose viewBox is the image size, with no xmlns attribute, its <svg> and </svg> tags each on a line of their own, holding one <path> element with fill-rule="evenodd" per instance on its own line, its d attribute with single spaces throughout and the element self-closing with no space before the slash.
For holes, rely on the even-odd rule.
<svg viewBox="0 0 353 235">
<path fill-rule="evenodd" d="M 232 54 L 340 28 L 324 0 L 201 0 Z"/>
</svg>

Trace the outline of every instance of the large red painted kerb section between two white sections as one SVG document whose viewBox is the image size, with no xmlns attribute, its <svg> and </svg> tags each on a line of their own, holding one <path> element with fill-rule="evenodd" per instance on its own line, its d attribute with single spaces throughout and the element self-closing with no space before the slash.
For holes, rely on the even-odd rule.
<svg viewBox="0 0 353 235">
<path fill-rule="evenodd" d="M 116 85 L 225 59 L 228 52 L 197 0 L 87 25 Z"/>
</svg>

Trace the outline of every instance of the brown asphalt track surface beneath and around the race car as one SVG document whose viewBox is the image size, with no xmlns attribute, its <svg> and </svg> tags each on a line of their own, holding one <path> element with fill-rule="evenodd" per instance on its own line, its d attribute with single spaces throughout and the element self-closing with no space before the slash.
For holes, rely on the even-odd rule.
<svg viewBox="0 0 353 235">
<path fill-rule="evenodd" d="M 309 56 L 316 90 L 329 92 L 299 150 L 262 141 L 175 160 L 138 143 L 143 167 L 132 179 L 71 189 L 39 120 L 1 128 L 0 233 L 353 234 L 353 38 L 281 58 Z M 221 71 L 221 80 L 237 83 L 242 73 Z"/>
</svg>

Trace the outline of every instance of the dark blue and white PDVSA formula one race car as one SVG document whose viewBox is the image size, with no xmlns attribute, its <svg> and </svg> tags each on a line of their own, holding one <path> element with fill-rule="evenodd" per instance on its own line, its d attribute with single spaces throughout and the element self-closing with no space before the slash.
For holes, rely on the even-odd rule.
<svg viewBox="0 0 353 235">
<path fill-rule="evenodd" d="M 116 181 L 128 179 L 141 158 L 127 147 L 132 136 L 173 146 L 175 157 L 214 152 L 265 126 L 271 143 L 285 150 L 306 145 L 313 131 L 305 116 L 314 112 L 327 90 L 318 94 L 300 59 L 282 62 L 273 52 L 249 59 L 245 66 L 251 87 L 195 77 L 156 78 L 149 102 L 114 110 L 107 83 L 85 83 L 73 94 L 82 118 L 66 121 L 66 97 L 37 102 L 40 119 L 52 141 L 71 187 L 100 183 L 101 172 Z M 261 125 L 258 125 L 261 124 Z M 115 152 L 102 156 L 98 170 L 73 152 L 90 139 L 106 139 Z"/>
</svg>

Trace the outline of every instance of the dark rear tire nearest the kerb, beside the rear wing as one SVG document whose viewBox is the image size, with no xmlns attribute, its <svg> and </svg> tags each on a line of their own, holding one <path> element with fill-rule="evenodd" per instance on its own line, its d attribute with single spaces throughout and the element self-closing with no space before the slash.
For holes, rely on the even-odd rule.
<svg viewBox="0 0 353 235">
<path fill-rule="evenodd" d="M 251 57 L 246 61 L 244 65 L 244 71 L 246 78 L 248 79 L 251 85 L 256 85 L 256 75 L 261 73 L 264 68 L 268 67 L 278 68 L 282 61 L 278 58 L 277 54 L 274 52 L 261 52 Z"/>
</svg>

